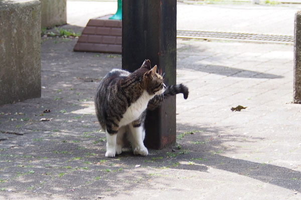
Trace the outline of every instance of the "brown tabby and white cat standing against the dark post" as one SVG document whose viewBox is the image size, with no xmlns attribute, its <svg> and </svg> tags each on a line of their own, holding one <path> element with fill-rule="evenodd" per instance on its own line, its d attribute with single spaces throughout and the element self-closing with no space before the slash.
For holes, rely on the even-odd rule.
<svg viewBox="0 0 301 200">
<path fill-rule="evenodd" d="M 106 134 L 106 157 L 122 152 L 123 136 L 131 142 L 133 153 L 146 156 L 143 144 L 146 109 L 155 109 L 168 96 L 183 93 L 188 97 L 188 88 L 183 84 L 166 87 L 157 65 L 144 60 L 141 67 L 130 73 L 112 69 L 100 81 L 95 95 L 95 111 Z"/>
</svg>

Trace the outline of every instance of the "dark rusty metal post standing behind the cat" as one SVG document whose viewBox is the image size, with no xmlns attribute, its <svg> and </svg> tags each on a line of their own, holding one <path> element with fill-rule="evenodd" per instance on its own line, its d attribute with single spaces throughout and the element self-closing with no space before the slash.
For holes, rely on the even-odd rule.
<svg viewBox="0 0 301 200">
<path fill-rule="evenodd" d="M 149 59 L 176 84 L 177 0 L 122 0 L 122 68 L 134 71 Z M 147 111 L 144 144 L 161 149 L 176 142 L 176 96 Z"/>
</svg>

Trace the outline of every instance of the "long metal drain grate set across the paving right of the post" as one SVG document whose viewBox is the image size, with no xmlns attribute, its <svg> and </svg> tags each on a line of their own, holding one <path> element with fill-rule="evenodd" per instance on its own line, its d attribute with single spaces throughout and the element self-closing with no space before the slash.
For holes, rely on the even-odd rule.
<svg viewBox="0 0 301 200">
<path fill-rule="evenodd" d="M 238 41 L 248 41 L 248 42 L 293 44 L 293 36 L 274 35 L 274 34 L 177 30 L 177 37 L 192 38 L 192 39 L 225 39 L 225 40 L 238 40 Z"/>
</svg>

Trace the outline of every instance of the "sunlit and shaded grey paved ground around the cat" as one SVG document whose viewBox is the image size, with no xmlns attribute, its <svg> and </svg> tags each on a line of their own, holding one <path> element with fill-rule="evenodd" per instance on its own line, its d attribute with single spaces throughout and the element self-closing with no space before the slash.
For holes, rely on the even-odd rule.
<svg viewBox="0 0 301 200">
<path fill-rule="evenodd" d="M 67 2 L 74 11 L 76 3 L 83 10 L 87 3 Z M 89 3 L 96 9 L 112 2 Z M 197 8 L 224 15 L 224 6 L 263 7 L 262 16 L 282 10 L 261 21 L 266 26 L 293 20 L 298 9 L 179 3 L 178 18 L 181 10 Z M 211 20 L 221 22 L 216 30 L 232 27 L 213 13 Z M 266 31 L 284 34 L 293 27 L 290 20 Z M 65 27 L 82 29 L 69 23 Z M 177 82 L 190 93 L 187 100 L 177 96 L 177 144 L 149 149 L 145 157 L 124 152 L 106 158 L 93 98 L 100 79 L 121 67 L 121 55 L 73 52 L 76 40 L 42 37 L 42 97 L 0 106 L 0 199 L 301 199 L 293 45 L 178 39 Z M 232 111 L 237 105 L 247 108 Z"/>
</svg>

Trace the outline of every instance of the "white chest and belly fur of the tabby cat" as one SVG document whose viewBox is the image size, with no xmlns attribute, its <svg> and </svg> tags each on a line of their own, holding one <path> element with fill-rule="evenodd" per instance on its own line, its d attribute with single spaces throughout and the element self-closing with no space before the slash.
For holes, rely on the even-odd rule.
<svg viewBox="0 0 301 200">
<path fill-rule="evenodd" d="M 148 92 L 144 90 L 142 95 L 136 100 L 136 102 L 133 102 L 126 109 L 125 113 L 123 114 L 123 117 L 119 122 L 119 127 L 127 125 L 130 122 L 136 120 L 146 109 L 148 101 L 153 97 L 154 95 L 149 95 Z"/>
</svg>

